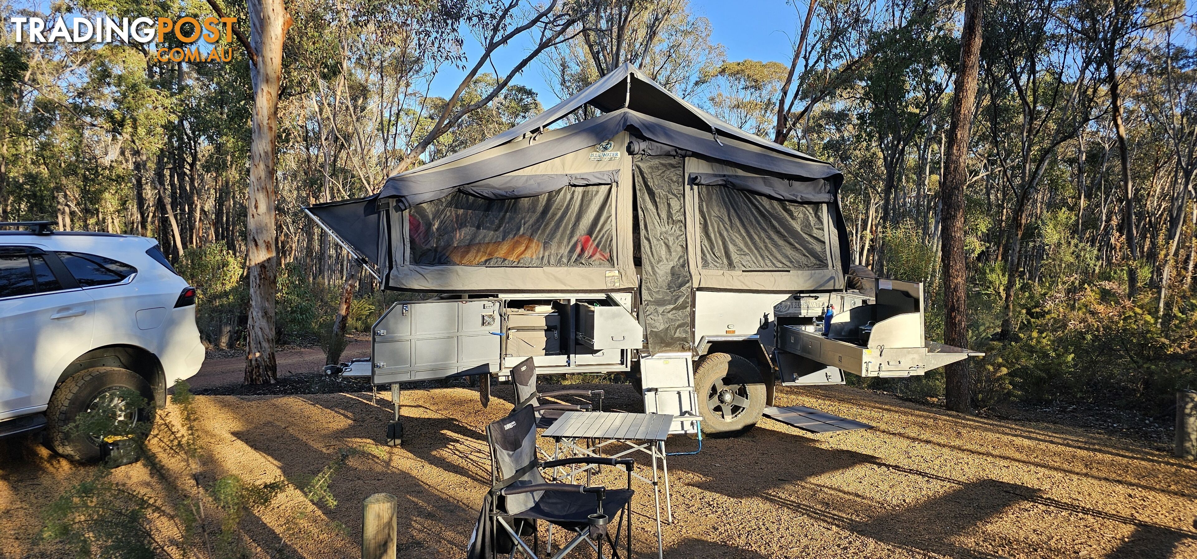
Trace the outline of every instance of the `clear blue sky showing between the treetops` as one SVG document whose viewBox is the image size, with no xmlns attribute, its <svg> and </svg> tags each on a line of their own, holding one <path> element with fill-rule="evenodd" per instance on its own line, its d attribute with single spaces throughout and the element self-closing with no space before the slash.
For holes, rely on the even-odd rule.
<svg viewBox="0 0 1197 559">
<path fill-rule="evenodd" d="M 801 6 L 806 6 L 803 2 Z M 722 43 L 728 60 L 777 60 L 789 65 L 790 37 L 798 26 L 795 7 L 785 0 L 691 0 L 691 11 L 705 16 L 711 22 L 711 42 Z M 500 50 L 496 55 L 496 66 L 505 72 L 518 62 L 528 50 L 527 42 L 519 42 Z M 481 45 L 470 41 L 466 51 L 474 60 L 481 51 Z M 461 83 L 464 72 L 445 68 L 432 85 L 431 93 L 437 96 L 452 95 Z M 540 93 L 545 107 L 557 104 L 558 99 L 545 84 L 542 71 L 535 63 L 529 65 L 515 83 L 525 85 Z"/>
</svg>

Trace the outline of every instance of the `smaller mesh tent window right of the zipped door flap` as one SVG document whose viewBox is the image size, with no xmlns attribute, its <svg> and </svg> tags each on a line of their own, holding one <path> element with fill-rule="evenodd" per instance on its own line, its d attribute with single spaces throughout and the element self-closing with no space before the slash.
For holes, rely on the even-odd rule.
<svg viewBox="0 0 1197 559">
<path fill-rule="evenodd" d="M 790 202 L 735 188 L 698 187 L 701 267 L 826 269 L 825 203 Z"/>
</svg>

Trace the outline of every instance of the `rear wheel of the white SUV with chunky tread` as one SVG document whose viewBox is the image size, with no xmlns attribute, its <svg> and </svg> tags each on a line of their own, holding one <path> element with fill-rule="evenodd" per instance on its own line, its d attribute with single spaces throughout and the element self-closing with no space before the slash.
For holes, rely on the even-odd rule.
<svg viewBox="0 0 1197 559">
<path fill-rule="evenodd" d="M 133 390 L 153 401 L 150 383 L 133 371 L 114 366 L 86 369 L 71 376 L 50 396 L 45 411 L 47 437 L 55 452 L 80 462 L 104 458 L 103 440 L 93 435 L 72 432 L 71 423 L 83 412 L 108 414 L 121 430 L 153 418 L 148 409 L 136 408 L 121 393 Z"/>
</svg>

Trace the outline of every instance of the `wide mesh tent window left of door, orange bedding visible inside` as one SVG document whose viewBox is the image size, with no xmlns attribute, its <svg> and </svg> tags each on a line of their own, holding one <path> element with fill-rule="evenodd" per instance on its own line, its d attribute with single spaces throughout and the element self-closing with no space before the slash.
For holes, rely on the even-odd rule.
<svg viewBox="0 0 1197 559">
<path fill-rule="evenodd" d="M 409 259 L 423 266 L 612 266 L 610 186 L 491 200 L 454 193 L 408 211 Z"/>
</svg>

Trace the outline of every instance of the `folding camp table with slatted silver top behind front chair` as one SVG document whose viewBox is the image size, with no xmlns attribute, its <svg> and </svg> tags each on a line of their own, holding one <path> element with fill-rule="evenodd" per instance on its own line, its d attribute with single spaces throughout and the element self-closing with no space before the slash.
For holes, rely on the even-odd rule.
<svg viewBox="0 0 1197 559">
<path fill-rule="evenodd" d="M 561 450 L 570 450 L 583 456 L 597 456 L 619 458 L 624 455 L 642 451 L 652 456 L 652 479 L 632 472 L 640 481 L 652 484 L 652 497 L 657 514 L 657 557 L 664 557 L 664 545 L 661 541 L 661 491 L 657 484 L 657 458 L 661 460 L 662 476 L 666 482 L 666 510 L 669 523 L 673 523 L 673 506 L 669 498 L 669 463 L 666 457 L 666 438 L 669 437 L 669 426 L 673 424 L 673 415 L 666 413 L 620 413 L 620 412 L 565 412 L 553 423 L 543 436 L 555 440 L 554 458 Z M 603 446 L 612 444 L 626 444 L 628 448 L 610 455 L 602 456 L 598 452 Z M 567 474 L 570 481 L 573 476 L 587 472 L 591 467 L 570 469 Z"/>
</svg>

